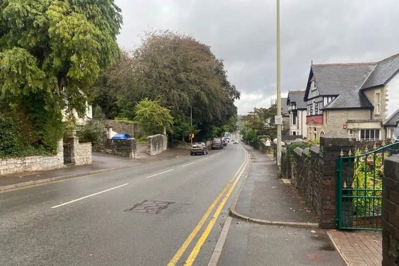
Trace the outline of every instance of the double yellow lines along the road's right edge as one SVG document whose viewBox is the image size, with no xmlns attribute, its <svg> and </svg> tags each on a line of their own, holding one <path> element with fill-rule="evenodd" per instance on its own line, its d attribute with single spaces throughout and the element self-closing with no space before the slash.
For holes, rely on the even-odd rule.
<svg viewBox="0 0 399 266">
<path fill-rule="evenodd" d="M 170 260 L 170 262 L 167 264 L 168 266 L 174 266 L 176 263 L 180 260 L 181 256 L 183 253 L 186 251 L 187 247 L 190 245 L 191 241 L 196 237 L 197 233 L 201 229 L 202 225 L 205 223 L 205 221 L 208 219 L 210 213 L 213 211 L 215 208 L 216 204 L 219 202 L 219 199 L 222 198 L 222 196 L 225 194 L 223 197 L 222 201 L 216 208 L 215 213 L 213 214 L 212 218 L 210 219 L 207 227 L 203 231 L 202 235 L 199 237 L 196 245 L 194 246 L 193 250 L 191 251 L 187 261 L 185 262 L 185 266 L 191 266 L 195 259 L 198 256 L 199 250 L 201 249 L 203 243 L 205 242 L 206 238 L 208 237 L 211 229 L 213 228 L 216 219 L 218 218 L 220 212 L 222 211 L 223 206 L 225 205 L 227 199 L 229 198 L 230 194 L 233 192 L 233 189 L 235 187 L 235 184 L 237 184 L 240 176 L 242 175 L 242 172 L 244 171 L 246 165 L 249 162 L 249 154 L 248 152 L 245 151 L 245 161 L 241 164 L 240 168 L 238 171 L 235 173 L 233 178 L 229 180 L 229 182 L 223 187 L 222 191 L 217 195 L 217 197 L 213 200 L 209 208 L 206 210 L 204 215 L 201 217 L 199 220 L 197 226 L 193 229 L 193 231 L 189 234 L 187 239 L 184 241 L 184 243 L 180 246 L 179 250 L 176 252 L 176 254 L 173 256 L 173 258 Z M 230 187 L 230 188 L 229 188 Z"/>
</svg>

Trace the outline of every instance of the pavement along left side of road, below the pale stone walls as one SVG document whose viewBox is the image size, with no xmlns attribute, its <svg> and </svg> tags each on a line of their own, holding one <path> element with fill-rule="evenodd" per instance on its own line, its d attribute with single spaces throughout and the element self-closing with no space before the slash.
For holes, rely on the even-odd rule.
<svg viewBox="0 0 399 266">
<path fill-rule="evenodd" d="M 139 145 L 142 149 L 144 145 Z M 140 150 L 140 151 L 141 151 Z M 168 160 L 175 157 L 181 157 L 189 154 L 185 149 L 168 149 L 160 154 L 149 156 L 145 152 L 140 153 L 138 158 L 126 158 L 112 154 L 105 154 L 100 152 L 92 153 L 92 164 L 79 165 L 79 166 L 66 166 L 65 168 L 48 170 L 48 171 L 37 171 L 37 172 L 25 172 L 17 173 L 13 175 L 1 176 L 0 177 L 0 190 L 1 187 L 10 186 L 20 183 L 26 183 L 33 181 L 35 183 L 39 180 L 47 180 L 58 178 L 63 179 L 67 177 L 77 177 L 82 175 L 88 175 L 91 173 L 105 172 L 107 170 L 114 170 L 118 168 L 128 168 L 146 163 L 152 163 L 160 160 Z M 29 184 L 27 184 L 29 185 Z M 33 184 L 32 184 L 33 185 Z"/>
</svg>

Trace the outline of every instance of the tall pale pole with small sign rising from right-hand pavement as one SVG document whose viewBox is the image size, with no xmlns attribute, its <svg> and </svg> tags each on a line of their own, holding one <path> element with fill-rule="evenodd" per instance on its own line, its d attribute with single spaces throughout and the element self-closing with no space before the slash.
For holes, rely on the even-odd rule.
<svg viewBox="0 0 399 266">
<path fill-rule="evenodd" d="M 281 116 L 281 62 L 280 62 L 280 0 L 276 0 L 277 11 L 277 116 Z M 277 125 L 277 176 L 281 176 L 281 124 Z"/>
</svg>

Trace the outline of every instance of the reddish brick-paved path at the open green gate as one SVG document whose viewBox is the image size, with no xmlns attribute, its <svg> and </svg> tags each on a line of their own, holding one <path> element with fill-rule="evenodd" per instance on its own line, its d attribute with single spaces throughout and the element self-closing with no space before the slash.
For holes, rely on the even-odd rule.
<svg viewBox="0 0 399 266">
<path fill-rule="evenodd" d="M 382 235 L 380 231 L 329 230 L 329 235 L 348 265 L 381 265 Z"/>
</svg>

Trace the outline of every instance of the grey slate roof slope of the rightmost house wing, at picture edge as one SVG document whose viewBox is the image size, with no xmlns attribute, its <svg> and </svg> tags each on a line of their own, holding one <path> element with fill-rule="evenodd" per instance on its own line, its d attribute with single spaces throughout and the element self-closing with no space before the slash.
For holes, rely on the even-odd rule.
<svg viewBox="0 0 399 266">
<path fill-rule="evenodd" d="M 399 70 L 399 54 L 388 57 L 380 62 L 367 77 L 361 89 L 385 85 Z"/>
</svg>

